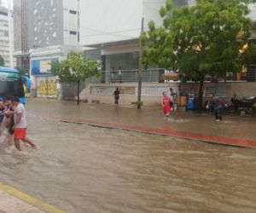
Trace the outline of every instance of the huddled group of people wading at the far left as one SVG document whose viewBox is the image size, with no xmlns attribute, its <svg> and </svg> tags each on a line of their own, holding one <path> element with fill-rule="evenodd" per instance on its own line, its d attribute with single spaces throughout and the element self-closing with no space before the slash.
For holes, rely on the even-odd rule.
<svg viewBox="0 0 256 213">
<path fill-rule="evenodd" d="M 20 140 L 36 148 L 36 145 L 26 137 L 26 109 L 17 97 L 5 97 L 0 101 L 0 134 L 5 136 L 7 147 L 13 141 L 18 151 L 21 151 Z"/>
</svg>

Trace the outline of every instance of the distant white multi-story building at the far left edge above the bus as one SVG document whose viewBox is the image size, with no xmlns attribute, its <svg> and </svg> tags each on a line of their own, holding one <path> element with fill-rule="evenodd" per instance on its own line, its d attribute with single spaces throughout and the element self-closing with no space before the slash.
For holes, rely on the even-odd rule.
<svg viewBox="0 0 256 213">
<path fill-rule="evenodd" d="M 0 8 L 0 55 L 4 66 L 14 67 L 14 30 L 12 13 L 7 8 Z"/>
</svg>

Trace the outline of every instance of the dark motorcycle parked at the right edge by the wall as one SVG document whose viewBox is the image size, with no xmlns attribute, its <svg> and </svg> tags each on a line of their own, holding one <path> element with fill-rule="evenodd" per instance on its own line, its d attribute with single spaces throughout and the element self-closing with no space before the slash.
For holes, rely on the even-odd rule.
<svg viewBox="0 0 256 213">
<path fill-rule="evenodd" d="M 254 114 L 256 112 L 256 97 L 244 97 L 241 100 L 236 98 L 236 94 L 230 99 L 231 104 L 227 107 L 228 112 L 245 112 Z"/>
</svg>

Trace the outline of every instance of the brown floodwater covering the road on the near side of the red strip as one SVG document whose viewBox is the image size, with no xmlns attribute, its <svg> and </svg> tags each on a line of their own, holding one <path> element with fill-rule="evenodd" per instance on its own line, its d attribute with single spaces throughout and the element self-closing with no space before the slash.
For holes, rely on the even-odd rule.
<svg viewBox="0 0 256 213">
<path fill-rule="evenodd" d="M 28 101 L 27 135 L 40 149 L 7 152 L 1 141 L 0 181 L 66 212 L 256 212 L 256 149 L 50 118 L 90 112 L 100 120 L 105 108 L 84 105 L 77 114 L 73 102 Z M 104 118 L 118 120 L 122 109 L 108 108 Z M 124 110 L 126 122 L 148 122 Z"/>
</svg>

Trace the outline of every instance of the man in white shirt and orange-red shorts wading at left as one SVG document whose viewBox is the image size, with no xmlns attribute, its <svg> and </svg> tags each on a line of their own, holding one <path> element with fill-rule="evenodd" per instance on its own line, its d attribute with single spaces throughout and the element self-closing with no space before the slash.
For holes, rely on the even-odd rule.
<svg viewBox="0 0 256 213">
<path fill-rule="evenodd" d="M 21 151 L 20 149 L 20 140 L 28 143 L 32 147 L 36 148 L 36 145 L 32 143 L 30 139 L 26 137 L 26 109 L 23 104 L 20 103 L 18 98 L 11 99 L 11 105 L 15 108 L 14 117 L 15 117 L 15 147 Z"/>
</svg>

